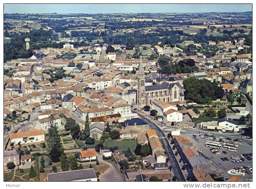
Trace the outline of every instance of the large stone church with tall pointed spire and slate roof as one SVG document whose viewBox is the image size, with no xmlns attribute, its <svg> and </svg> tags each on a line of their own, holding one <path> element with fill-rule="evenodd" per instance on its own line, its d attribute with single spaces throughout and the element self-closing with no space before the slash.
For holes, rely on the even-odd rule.
<svg viewBox="0 0 256 189">
<path fill-rule="evenodd" d="M 137 82 L 137 105 L 140 107 L 144 107 L 145 105 L 151 106 L 153 100 L 164 102 L 184 100 L 184 95 L 181 92 L 181 86 L 178 82 L 145 86 L 142 57 L 140 57 Z"/>
</svg>

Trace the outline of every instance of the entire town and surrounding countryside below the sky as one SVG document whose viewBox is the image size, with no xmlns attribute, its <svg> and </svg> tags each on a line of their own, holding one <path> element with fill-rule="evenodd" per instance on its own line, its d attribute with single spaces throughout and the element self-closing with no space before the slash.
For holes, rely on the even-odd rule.
<svg viewBox="0 0 256 189">
<path fill-rule="evenodd" d="M 4 14 L 4 180 L 252 181 L 252 27 Z"/>
</svg>

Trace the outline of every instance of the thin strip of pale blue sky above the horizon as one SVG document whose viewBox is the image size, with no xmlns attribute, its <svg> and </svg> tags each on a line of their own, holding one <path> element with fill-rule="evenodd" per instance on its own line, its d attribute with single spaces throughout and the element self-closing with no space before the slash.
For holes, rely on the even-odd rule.
<svg viewBox="0 0 256 189">
<path fill-rule="evenodd" d="M 246 12 L 251 4 L 5 4 L 4 13 Z"/>
</svg>

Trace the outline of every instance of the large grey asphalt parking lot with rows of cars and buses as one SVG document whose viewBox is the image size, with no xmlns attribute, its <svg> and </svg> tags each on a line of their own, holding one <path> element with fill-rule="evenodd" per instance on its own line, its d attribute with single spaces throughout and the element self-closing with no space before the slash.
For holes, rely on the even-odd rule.
<svg viewBox="0 0 256 189">
<path fill-rule="evenodd" d="M 211 166 L 213 167 L 214 172 L 223 176 L 225 179 L 230 179 L 235 175 L 241 177 L 241 179 L 244 179 L 244 180 L 252 179 L 253 176 L 252 176 L 252 173 L 250 172 L 253 166 L 252 160 L 248 160 L 244 158 L 243 159 L 244 161 L 242 161 L 242 158 L 240 156 L 242 154 L 252 153 L 252 146 L 249 145 L 248 143 L 242 142 L 241 145 L 239 145 L 239 140 L 237 140 L 238 149 L 236 152 L 232 152 L 232 151 L 228 151 L 228 148 L 223 147 L 223 142 L 218 141 L 220 142 L 222 147 L 221 149 L 217 149 L 220 152 L 220 154 L 216 155 L 213 152 L 211 152 L 211 149 L 213 148 L 205 146 L 206 141 L 213 141 L 213 140 L 210 140 L 210 138 L 202 139 L 199 136 L 199 134 L 191 134 L 191 133 L 185 133 L 183 134 L 183 136 L 187 136 L 190 138 L 190 140 L 194 143 L 195 148 L 198 148 L 198 150 L 200 151 L 201 155 L 209 160 L 209 163 L 211 163 Z M 226 142 L 226 138 L 224 136 L 223 136 L 223 140 L 225 140 Z M 213 142 L 216 142 L 216 140 Z M 225 153 L 223 153 L 223 151 L 225 151 Z M 231 157 L 233 159 L 231 159 Z M 233 163 L 232 160 L 234 160 L 233 162 L 235 163 Z M 247 166 L 250 166 L 250 167 L 247 167 Z M 234 168 L 235 170 L 233 170 Z M 242 172 L 247 172 L 247 173 L 243 174 Z"/>
</svg>

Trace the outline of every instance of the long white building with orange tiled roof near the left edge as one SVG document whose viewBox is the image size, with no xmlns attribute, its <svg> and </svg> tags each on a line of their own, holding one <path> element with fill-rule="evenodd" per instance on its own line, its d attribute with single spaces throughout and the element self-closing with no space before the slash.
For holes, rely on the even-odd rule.
<svg viewBox="0 0 256 189">
<path fill-rule="evenodd" d="M 45 141 L 45 132 L 43 130 L 16 132 L 10 134 L 10 143 L 14 145 L 39 143 Z"/>
</svg>

